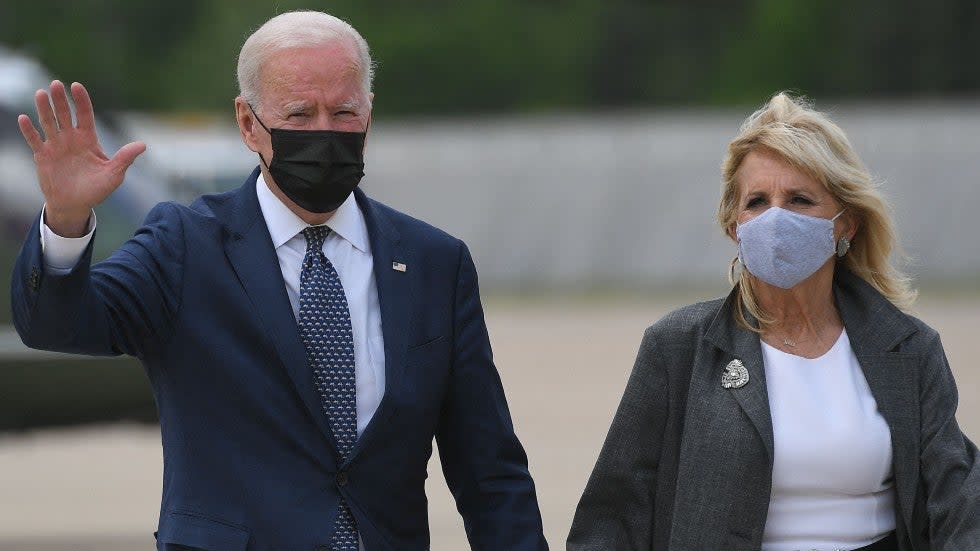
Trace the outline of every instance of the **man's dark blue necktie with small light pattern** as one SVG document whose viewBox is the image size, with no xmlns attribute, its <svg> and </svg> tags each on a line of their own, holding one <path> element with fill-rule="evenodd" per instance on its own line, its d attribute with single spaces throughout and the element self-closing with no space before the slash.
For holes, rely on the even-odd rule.
<svg viewBox="0 0 980 551">
<path fill-rule="evenodd" d="M 337 442 L 341 461 L 357 442 L 357 393 L 354 381 L 354 333 L 340 276 L 323 254 L 326 226 L 303 230 L 306 256 L 299 283 L 299 330 L 313 382 Z M 332 551 L 358 551 L 357 523 L 341 496 L 330 539 Z"/>
</svg>

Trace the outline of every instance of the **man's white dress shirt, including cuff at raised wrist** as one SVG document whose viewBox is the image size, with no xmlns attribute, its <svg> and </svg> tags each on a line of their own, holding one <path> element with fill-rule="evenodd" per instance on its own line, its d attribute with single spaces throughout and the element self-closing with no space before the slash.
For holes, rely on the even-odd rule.
<svg viewBox="0 0 980 551">
<path fill-rule="evenodd" d="M 306 238 L 302 232 L 308 224 L 272 194 L 261 174 L 255 185 L 259 207 L 279 258 L 282 278 L 286 282 L 289 304 L 293 309 L 293 316 L 297 317 L 299 276 L 303 257 L 306 255 Z M 47 224 L 41 224 L 41 250 L 44 253 L 45 270 L 54 274 L 71 271 L 91 241 L 95 224 L 93 212 L 88 234 L 79 238 L 61 237 L 51 231 Z M 378 288 L 374 281 L 371 242 L 364 215 L 353 194 L 337 209 L 326 225 L 333 231 L 323 241 L 323 254 L 337 270 L 344 286 L 354 332 L 357 435 L 361 436 L 374 417 L 385 389 L 384 338 L 381 333 L 381 309 Z"/>
</svg>

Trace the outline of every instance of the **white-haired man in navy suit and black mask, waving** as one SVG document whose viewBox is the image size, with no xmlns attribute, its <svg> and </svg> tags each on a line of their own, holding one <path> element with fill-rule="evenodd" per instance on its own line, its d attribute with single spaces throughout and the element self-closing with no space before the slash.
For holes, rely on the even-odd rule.
<svg viewBox="0 0 980 551">
<path fill-rule="evenodd" d="M 466 246 L 355 189 L 371 121 L 364 39 L 318 12 L 248 38 L 244 186 L 154 208 L 90 267 L 92 207 L 145 149 L 108 158 L 71 86 L 35 96 L 45 207 L 18 258 L 32 347 L 131 354 L 163 437 L 158 549 L 426 549 L 433 436 L 474 549 L 547 549 Z M 51 106 L 53 104 L 53 108 Z M 353 190 L 353 192 L 352 192 Z"/>
</svg>

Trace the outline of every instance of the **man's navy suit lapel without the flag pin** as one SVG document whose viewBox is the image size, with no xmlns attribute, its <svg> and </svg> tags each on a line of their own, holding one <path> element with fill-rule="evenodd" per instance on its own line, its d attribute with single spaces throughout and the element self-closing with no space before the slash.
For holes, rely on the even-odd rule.
<svg viewBox="0 0 980 551">
<path fill-rule="evenodd" d="M 225 255 L 258 312 L 297 394 L 320 431 L 330 441 L 331 448 L 336 451 L 333 433 L 314 390 L 313 374 L 286 295 L 279 259 L 255 194 L 257 174 L 258 169 L 235 194 L 230 205 L 233 212 L 228 216 L 230 222 L 225 237 Z M 336 457 L 331 460 L 336 461 Z"/>
</svg>

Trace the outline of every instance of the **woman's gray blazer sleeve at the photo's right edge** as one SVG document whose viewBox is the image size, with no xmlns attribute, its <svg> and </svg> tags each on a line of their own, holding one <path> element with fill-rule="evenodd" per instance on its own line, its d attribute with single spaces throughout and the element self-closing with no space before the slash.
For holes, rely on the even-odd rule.
<svg viewBox="0 0 980 551">
<path fill-rule="evenodd" d="M 938 334 L 920 378 L 921 465 L 932 548 L 980 549 L 980 456 L 956 423 L 956 383 Z"/>
</svg>

